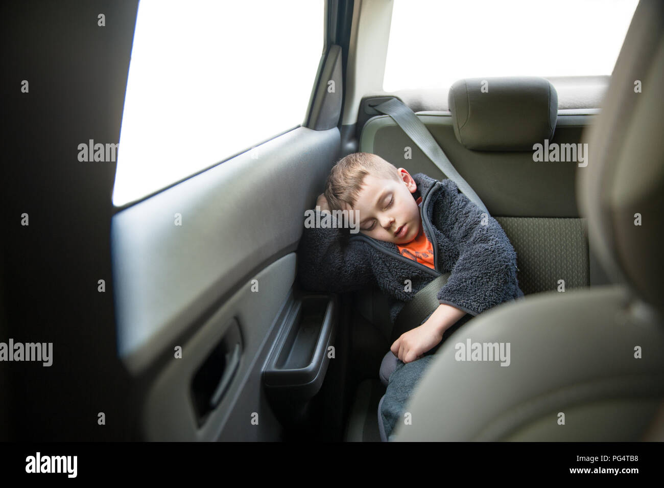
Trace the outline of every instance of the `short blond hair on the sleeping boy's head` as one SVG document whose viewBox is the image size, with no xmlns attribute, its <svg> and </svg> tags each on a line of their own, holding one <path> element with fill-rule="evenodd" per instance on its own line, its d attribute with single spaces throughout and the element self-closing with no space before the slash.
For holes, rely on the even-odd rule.
<svg viewBox="0 0 664 488">
<path fill-rule="evenodd" d="M 402 181 L 396 166 L 371 153 L 353 153 L 337 162 L 325 182 L 325 199 L 330 210 L 343 210 L 343 203 L 355 206 L 365 176 Z"/>
</svg>

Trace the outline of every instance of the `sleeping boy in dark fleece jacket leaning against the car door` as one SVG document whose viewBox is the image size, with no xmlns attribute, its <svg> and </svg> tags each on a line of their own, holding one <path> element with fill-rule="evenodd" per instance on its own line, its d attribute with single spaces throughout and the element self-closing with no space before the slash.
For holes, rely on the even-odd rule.
<svg viewBox="0 0 664 488">
<path fill-rule="evenodd" d="M 370 153 L 341 159 L 316 207 L 323 214 L 355 212 L 359 232 L 305 225 L 298 250 L 298 275 L 305 289 L 345 293 L 377 285 L 388 297 L 394 323 L 422 287 L 450 273 L 438 291 L 438 308 L 400 335 L 381 365 L 387 390 L 379 425 L 381 436 L 389 440 L 444 336 L 499 303 L 523 297 L 517 256 L 497 220 L 460 193 L 452 180 L 410 175 Z"/>
</svg>

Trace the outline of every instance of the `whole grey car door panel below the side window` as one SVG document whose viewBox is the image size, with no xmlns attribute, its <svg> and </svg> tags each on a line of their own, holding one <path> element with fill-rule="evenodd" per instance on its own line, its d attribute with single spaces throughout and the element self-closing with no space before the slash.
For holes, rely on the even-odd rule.
<svg viewBox="0 0 664 488">
<path fill-rule="evenodd" d="M 274 437 L 276 428 L 250 430 L 252 412 L 274 423 L 259 412 L 258 366 L 295 280 L 304 210 L 339 147 L 336 127 L 298 127 L 113 217 L 118 351 L 149 385 L 145 438 L 216 440 L 236 403 L 246 422 L 224 438 Z M 199 429 L 191 382 L 232 320 L 242 337 L 238 370 Z"/>
</svg>

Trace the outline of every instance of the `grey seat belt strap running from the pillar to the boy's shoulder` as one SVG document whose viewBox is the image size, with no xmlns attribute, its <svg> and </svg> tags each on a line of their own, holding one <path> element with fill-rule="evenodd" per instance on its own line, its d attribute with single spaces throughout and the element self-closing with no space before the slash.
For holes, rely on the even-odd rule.
<svg viewBox="0 0 664 488">
<path fill-rule="evenodd" d="M 483 212 L 489 215 L 489 210 L 484 203 L 482 203 L 477 193 L 468 185 L 467 181 L 459 175 L 459 172 L 454 169 L 450 159 L 445 155 L 440 145 L 434 139 L 434 136 L 428 131 L 424 123 L 415 113 L 410 110 L 403 102 L 396 98 L 392 98 L 387 102 L 380 105 L 373 106 L 381 114 L 390 116 L 396 122 L 396 125 L 401 127 L 410 139 L 419 147 L 422 152 L 431 159 L 431 161 L 454 183 L 456 183 L 459 190 L 468 197 L 468 199 L 479 206 Z"/>
</svg>

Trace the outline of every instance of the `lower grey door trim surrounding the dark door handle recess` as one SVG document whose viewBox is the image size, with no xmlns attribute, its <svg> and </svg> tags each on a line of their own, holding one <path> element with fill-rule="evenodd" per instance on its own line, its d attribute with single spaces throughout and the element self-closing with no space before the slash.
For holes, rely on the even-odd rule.
<svg viewBox="0 0 664 488">
<path fill-rule="evenodd" d="M 161 369 L 149 386 L 141 414 L 147 441 L 275 441 L 280 426 L 262 398 L 260 380 L 264 361 L 276 340 L 280 311 L 288 307 L 297 258 L 288 254 L 258 273 L 260 287 L 248 280 L 219 307 L 191 339 L 182 344 L 182 358 Z M 234 378 L 220 403 L 199 428 L 191 399 L 191 381 L 197 369 L 228 327 L 236 322 L 242 335 L 242 356 Z M 251 428 L 256 412 L 260 428 Z"/>
</svg>

